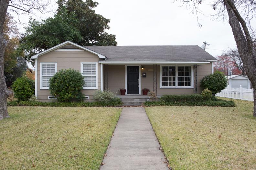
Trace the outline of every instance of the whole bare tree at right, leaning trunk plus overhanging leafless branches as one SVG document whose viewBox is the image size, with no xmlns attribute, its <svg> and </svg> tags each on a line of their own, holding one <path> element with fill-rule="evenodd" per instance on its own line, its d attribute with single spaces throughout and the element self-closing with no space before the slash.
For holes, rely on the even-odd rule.
<svg viewBox="0 0 256 170">
<path fill-rule="evenodd" d="M 181 0 L 182 5 L 188 6 L 198 16 L 202 0 Z M 212 15 L 218 19 L 229 17 L 237 49 L 245 68 L 246 74 L 254 89 L 253 116 L 256 117 L 256 53 L 255 53 L 255 30 L 251 26 L 251 20 L 255 17 L 256 3 L 254 0 L 217 0 L 212 1 L 213 10 L 217 11 Z M 198 18 L 197 18 L 198 22 Z M 199 27 L 201 24 L 198 22 Z"/>
</svg>

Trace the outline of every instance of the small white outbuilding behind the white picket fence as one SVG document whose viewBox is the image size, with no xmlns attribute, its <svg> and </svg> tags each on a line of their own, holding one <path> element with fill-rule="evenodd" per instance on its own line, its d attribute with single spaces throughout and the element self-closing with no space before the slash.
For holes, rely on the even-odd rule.
<svg viewBox="0 0 256 170">
<path fill-rule="evenodd" d="M 244 75 L 229 75 L 226 76 L 229 82 L 229 87 L 239 88 L 240 85 L 243 88 L 251 89 L 251 82 L 247 76 Z"/>
</svg>

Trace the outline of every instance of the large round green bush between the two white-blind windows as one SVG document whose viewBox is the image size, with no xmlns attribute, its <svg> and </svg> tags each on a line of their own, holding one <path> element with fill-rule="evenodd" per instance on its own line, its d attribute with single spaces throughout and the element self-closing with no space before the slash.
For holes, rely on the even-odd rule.
<svg viewBox="0 0 256 170">
<path fill-rule="evenodd" d="M 73 69 L 61 69 L 49 80 L 50 93 L 58 101 L 68 102 L 72 99 L 83 100 L 84 79 L 81 73 Z"/>
</svg>

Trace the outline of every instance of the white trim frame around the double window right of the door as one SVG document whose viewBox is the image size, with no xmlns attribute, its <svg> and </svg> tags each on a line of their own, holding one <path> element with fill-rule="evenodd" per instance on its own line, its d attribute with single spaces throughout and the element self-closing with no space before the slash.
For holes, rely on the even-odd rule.
<svg viewBox="0 0 256 170">
<path fill-rule="evenodd" d="M 162 86 L 162 66 L 175 66 L 176 70 L 176 86 Z M 191 86 L 178 86 L 178 66 L 191 66 Z M 160 65 L 160 88 L 194 88 L 194 65 Z"/>
</svg>

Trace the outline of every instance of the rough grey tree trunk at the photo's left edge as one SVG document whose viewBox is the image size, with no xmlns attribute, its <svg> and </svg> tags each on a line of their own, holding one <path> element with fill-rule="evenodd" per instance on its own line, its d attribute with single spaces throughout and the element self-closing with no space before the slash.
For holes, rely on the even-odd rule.
<svg viewBox="0 0 256 170">
<path fill-rule="evenodd" d="M 6 42 L 4 39 L 4 22 L 9 0 L 0 0 L 0 120 L 9 117 L 7 98 L 11 92 L 7 89 L 4 75 L 4 55 Z"/>
</svg>

